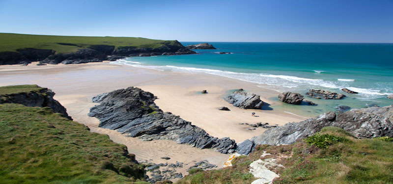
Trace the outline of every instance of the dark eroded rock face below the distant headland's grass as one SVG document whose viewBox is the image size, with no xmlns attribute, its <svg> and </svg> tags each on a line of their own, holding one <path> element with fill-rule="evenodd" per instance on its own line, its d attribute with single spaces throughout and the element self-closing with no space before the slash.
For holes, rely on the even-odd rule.
<svg viewBox="0 0 393 184">
<path fill-rule="evenodd" d="M 67 43 L 57 43 L 59 45 L 67 45 Z M 69 44 L 68 44 L 69 45 Z M 71 44 L 75 45 L 75 44 Z M 0 65 L 11 64 L 28 64 L 32 61 L 40 61 L 46 64 L 80 64 L 88 62 L 102 62 L 111 60 L 111 56 L 152 56 L 152 55 L 179 55 L 193 54 L 191 51 L 181 45 L 180 42 L 170 41 L 163 42 L 158 48 L 148 45 L 146 47 L 118 47 L 110 45 L 91 45 L 88 48 L 79 49 L 74 53 L 56 53 L 53 50 L 24 48 L 18 49 L 16 52 L 1 52 Z"/>
</svg>

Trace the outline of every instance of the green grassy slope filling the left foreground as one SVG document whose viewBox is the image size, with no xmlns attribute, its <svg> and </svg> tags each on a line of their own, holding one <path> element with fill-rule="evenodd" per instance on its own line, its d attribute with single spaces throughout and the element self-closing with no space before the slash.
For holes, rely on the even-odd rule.
<svg viewBox="0 0 393 184">
<path fill-rule="evenodd" d="M 49 107 L 0 105 L 1 184 L 130 184 L 144 176 L 132 157 Z"/>
</svg>

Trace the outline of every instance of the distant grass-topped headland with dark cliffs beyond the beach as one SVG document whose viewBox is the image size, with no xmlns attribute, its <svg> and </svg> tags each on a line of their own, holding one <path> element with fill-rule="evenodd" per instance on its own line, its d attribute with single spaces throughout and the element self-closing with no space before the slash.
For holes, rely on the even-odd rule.
<svg viewBox="0 0 393 184">
<path fill-rule="evenodd" d="M 193 54 L 177 40 L 0 33 L 0 65 L 79 64 L 128 56 Z"/>
</svg>

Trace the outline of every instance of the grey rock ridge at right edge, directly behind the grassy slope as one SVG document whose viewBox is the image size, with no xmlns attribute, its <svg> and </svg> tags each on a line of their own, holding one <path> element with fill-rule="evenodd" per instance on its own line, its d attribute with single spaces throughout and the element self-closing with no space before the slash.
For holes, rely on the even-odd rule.
<svg viewBox="0 0 393 184">
<path fill-rule="evenodd" d="M 393 105 L 352 109 L 340 114 L 327 112 L 299 123 L 287 123 L 251 138 L 255 144 L 292 144 L 323 127 L 333 126 L 349 131 L 358 138 L 393 136 Z"/>
</svg>

